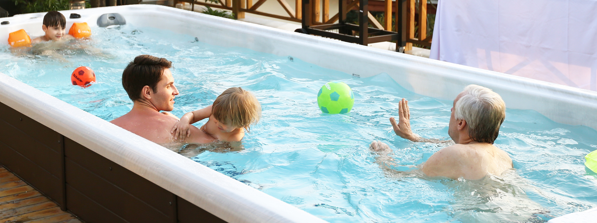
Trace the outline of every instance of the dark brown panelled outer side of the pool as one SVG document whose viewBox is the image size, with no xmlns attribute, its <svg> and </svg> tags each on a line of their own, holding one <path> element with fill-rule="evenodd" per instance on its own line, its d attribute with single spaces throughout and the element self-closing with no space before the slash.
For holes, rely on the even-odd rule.
<svg viewBox="0 0 597 223">
<path fill-rule="evenodd" d="M 88 222 L 225 222 L 0 103 L 0 164 Z"/>
</svg>

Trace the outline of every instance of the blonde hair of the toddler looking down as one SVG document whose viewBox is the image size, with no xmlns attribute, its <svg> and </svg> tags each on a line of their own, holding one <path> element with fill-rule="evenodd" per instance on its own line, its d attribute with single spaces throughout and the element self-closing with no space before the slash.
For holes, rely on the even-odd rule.
<svg viewBox="0 0 597 223">
<path fill-rule="evenodd" d="M 211 106 L 211 114 L 221 123 L 249 131 L 261 117 L 261 105 L 255 96 L 241 87 L 224 90 Z"/>
</svg>

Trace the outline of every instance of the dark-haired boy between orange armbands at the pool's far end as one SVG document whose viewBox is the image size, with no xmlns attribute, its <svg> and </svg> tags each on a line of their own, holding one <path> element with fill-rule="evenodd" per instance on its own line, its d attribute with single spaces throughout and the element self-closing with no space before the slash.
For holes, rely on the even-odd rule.
<svg viewBox="0 0 597 223">
<path fill-rule="evenodd" d="M 33 39 L 32 43 L 73 39 L 72 36 L 66 34 L 66 18 L 57 11 L 45 14 L 44 24 L 42 24 L 41 29 L 44 30 L 45 35 Z"/>
</svg>

